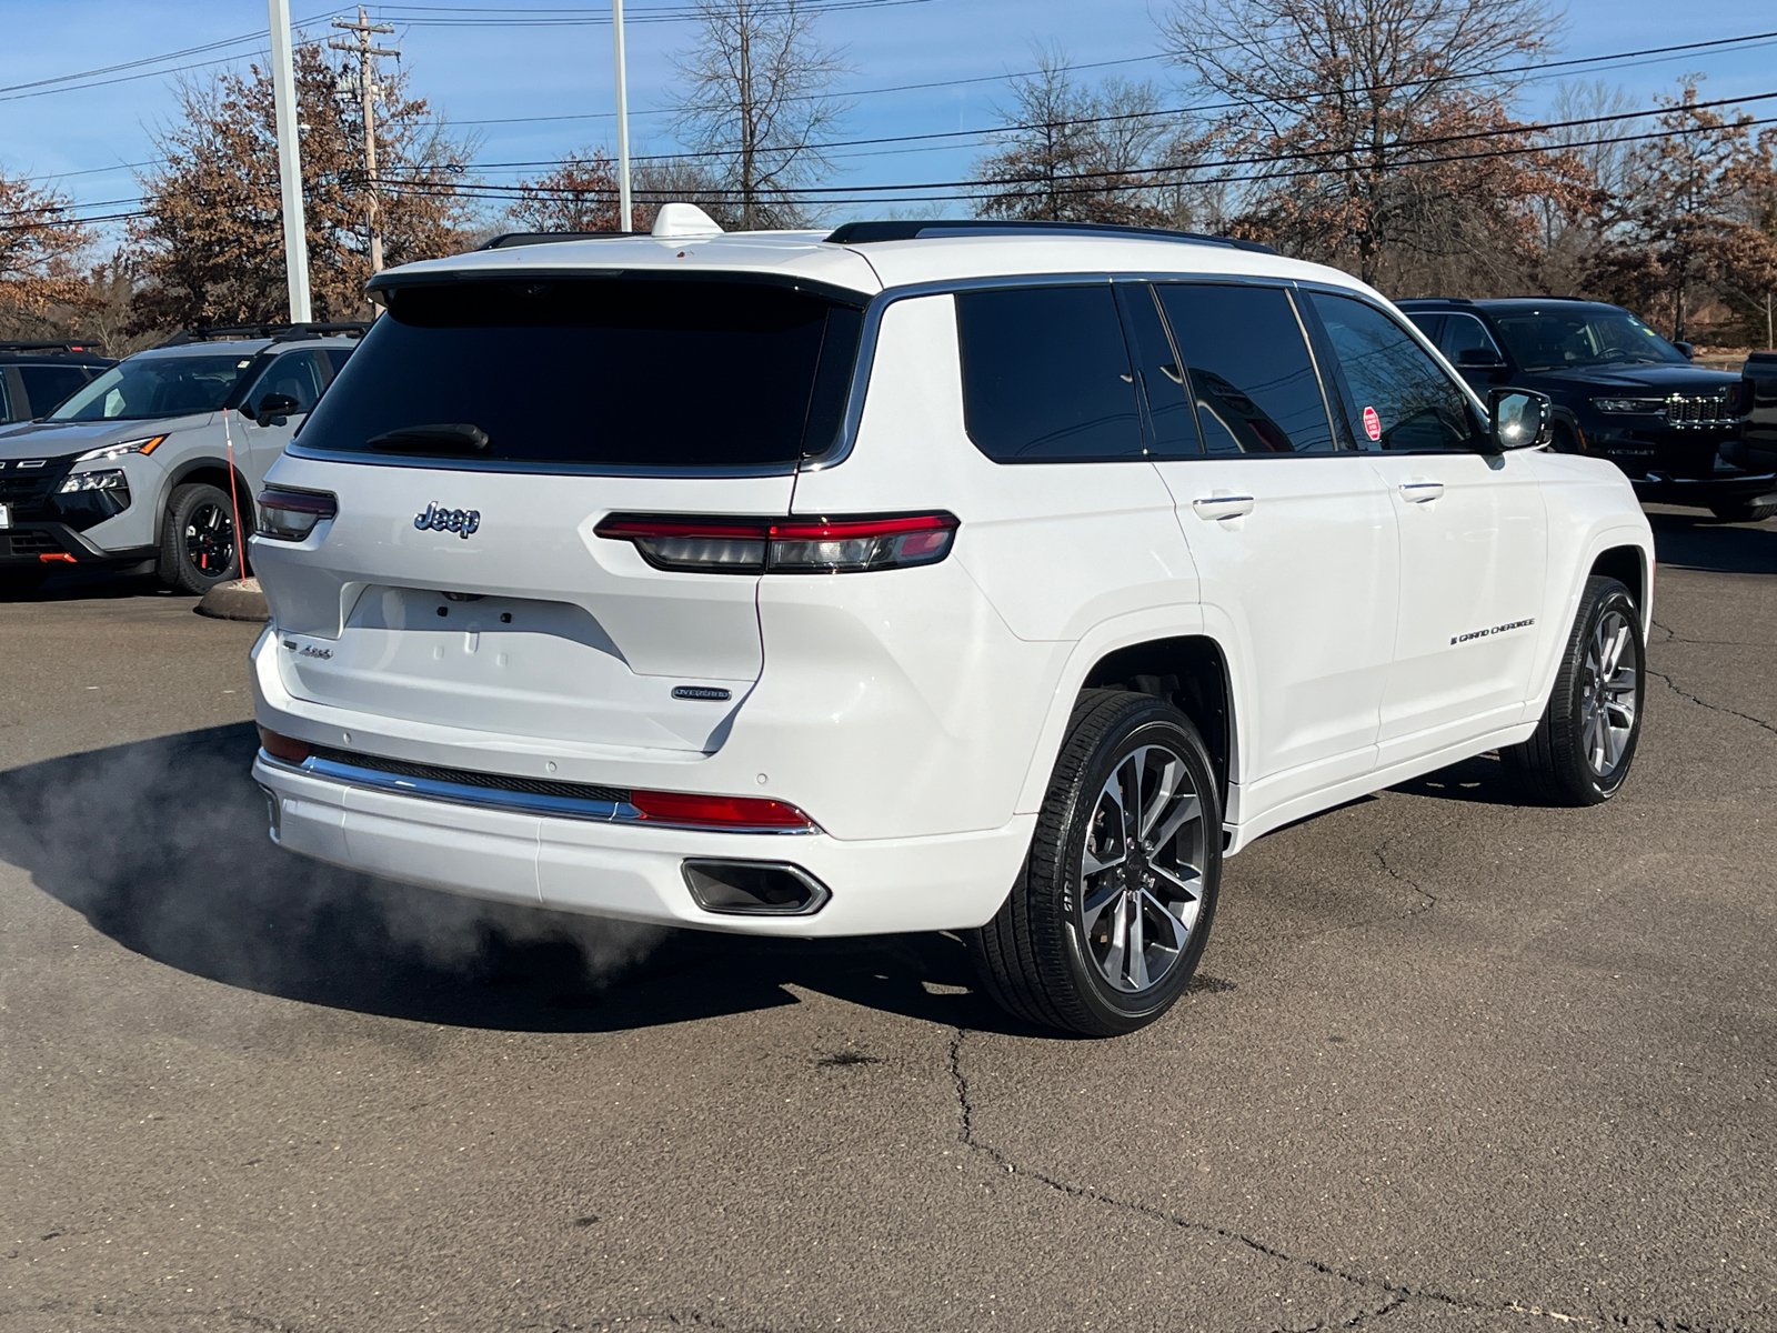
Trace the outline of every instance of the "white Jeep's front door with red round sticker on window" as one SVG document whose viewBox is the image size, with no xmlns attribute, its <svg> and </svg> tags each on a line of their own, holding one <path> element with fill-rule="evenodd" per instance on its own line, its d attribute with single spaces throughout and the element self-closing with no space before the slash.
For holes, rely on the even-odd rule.
<svg viewBox="0 0 1777 1333">
<path fill-rule="evenodd" d="M 1388 311 L 1308 297 L 1329 377 L 1398 515 L 1400 620 L 1379 762 L 1436 754 L 1523 716 L 1548 578 L 1542 491 L 1523 453 L 1487 453 L 1457 380 Z"/>
</svg>

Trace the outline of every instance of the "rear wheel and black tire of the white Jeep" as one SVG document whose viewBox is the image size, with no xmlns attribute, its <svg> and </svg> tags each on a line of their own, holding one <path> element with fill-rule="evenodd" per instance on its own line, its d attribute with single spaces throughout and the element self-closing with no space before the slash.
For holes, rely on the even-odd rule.
<svg viewBox="0 0 1777 1333">
<path fill-rule="evenodd" d="M 1130 782 L 1143 800 L 1153 793 L 1139 821 L 1155 837 L 1150 846 L 1137 835 L 1118 855 L 1123 828 L 1109 828 L 1105 812 L 1116 818 L 1111 789 Z M 1221 796 L 1191 720 L 1151 695 L 1086 691 L 1018 882 L 993 921 L 970 931 L 983 992 L 1025 1022 L 1082 1036 L 1153 1022 L 1183 994 L 1208 942 L 1221 841 Z M 1089 873 L 1088 851 L 1114 858 Z"/>
</svg>

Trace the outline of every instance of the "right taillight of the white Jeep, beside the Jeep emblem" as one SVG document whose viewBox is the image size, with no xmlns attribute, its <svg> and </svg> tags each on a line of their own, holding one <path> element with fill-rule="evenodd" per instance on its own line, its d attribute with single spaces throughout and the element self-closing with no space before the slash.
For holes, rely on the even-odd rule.
<svg viewBox="0 0 1777 1333">
<path fill-rule="evenodd" d="M 695 574 L 853 574 L 933 565 L 951 553 L 954 514 L 741 519 L 611 514 L 599 537 L 634 542 L 656 569 Z"/>
</svg>

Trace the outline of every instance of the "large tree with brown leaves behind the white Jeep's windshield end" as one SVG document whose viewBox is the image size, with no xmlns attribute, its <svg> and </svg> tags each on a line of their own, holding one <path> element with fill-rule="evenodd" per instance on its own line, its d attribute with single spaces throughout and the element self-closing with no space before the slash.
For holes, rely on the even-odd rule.
<svg viewBox="0 0 1777 1333">
<path fill-rule="evenodd" d="M 1548 48 L 1542 0 L 1178 0 L 1171 57 L 1230 103 L 1240 229 L 1397 288 L 1518 281 L 1534 203 L 1583 171 L 1507 114 L 1502 68 Z"/>
</svg>

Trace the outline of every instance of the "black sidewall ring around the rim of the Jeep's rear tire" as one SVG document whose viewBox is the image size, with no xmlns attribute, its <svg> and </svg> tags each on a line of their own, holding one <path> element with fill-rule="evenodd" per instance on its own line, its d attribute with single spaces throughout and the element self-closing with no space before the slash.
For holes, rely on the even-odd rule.
<svg viewBox="0 0 1777 1333">
<path fill-rule="evenodd" d="M 1080 935 L 1080 905 L 1075 867 L 1086 850 L 1091 816 L 1098 803 L 1098 793 L 1109 780 L 1116 766 L 1130 750 L 1141 745 L 1166 743 L 1183 761 L 1191 773 L 1191 782 L 1203 802 L 1203 906 L 1198 910 L 1191 940 L 1180 958 L 1160 985 L 1144 992 L 1139 1002 L 1114 990 L 1098 972 L 1098 965 L 1086 949 Z M 1167 1008 L 1171 1008 L 1191 985 L 1198 970 L 1203 949 L 1208 944 L 1210 922 L 1215 917 L 1215 899 L 1221 889 L 1221 798 L 1215 777 L 1205 762 L 1203 741 L 1191 722 L 1171 704 L 1159 698 L 1132 709 L 1118 720 L 1105 736 L 1100 738 L 1079 780 L 1066 794 L 1068 818 L 1066 835 L 1061 839 L 1059 874 L 1054 885 L 1054 901 L 1061 914 L 1063 942 L 1066 949 L 1068 970 L 1073 972 L 1075 990 L 1088 1006 L 1096 1024 L 1109 1031 L 1132 1033 L 1144 1027 Z"/>
</svg>

